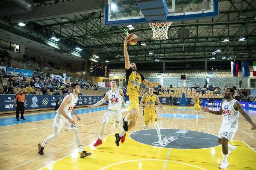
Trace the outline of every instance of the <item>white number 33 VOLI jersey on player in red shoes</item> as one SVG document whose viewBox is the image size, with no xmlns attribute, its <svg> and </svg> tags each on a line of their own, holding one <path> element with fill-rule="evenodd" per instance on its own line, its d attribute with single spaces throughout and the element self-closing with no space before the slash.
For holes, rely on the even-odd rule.
<svg viewBox="0 0 256 170">
<path fill-rule="evenodd" d="M 122 110 L 123 96 L 120 95 L 118 88 L 114 92 L 108 91 L 108 100 L 109 110 Z"/>
</svg>

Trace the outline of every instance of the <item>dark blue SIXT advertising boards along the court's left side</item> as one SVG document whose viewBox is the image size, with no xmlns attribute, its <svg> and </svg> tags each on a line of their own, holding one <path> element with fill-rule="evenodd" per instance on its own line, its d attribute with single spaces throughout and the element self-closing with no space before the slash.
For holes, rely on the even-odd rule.
<svg viewBox="0 0 256 170">
<path fill-rule="evenodd" d="M 0 95 L 0 102 L 2 103 L 0 112 L 16 110 L 14 97 L 15 95 Z M 54 108 L 59 101 L 62 102 L 64 97 L 64 95 L 26 95 L 25 110 Z M 95 104 L 103 98 L 104 96 L 78 96 L 76 106 Z"/>
</svg>

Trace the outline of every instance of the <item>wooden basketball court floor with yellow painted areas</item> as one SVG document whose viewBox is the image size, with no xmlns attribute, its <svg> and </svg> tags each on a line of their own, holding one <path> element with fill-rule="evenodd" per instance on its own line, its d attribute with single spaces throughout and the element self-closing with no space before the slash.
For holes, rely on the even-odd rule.
<svg viewBox="0 0 256 170">
<path fill-rule="evenodd" d="M 184 107 L 166 107 L 166 113 L 194 114 L 191 108 L 187 107 L 186 110 Z M 156 110 L 160 114 L 158 106 Z M 42 113 L 47 112 L 32 114 Z M 123 112 L 123 117 L 127 113 Z M 143 129 L 142 108 L 140 113 L 131 132 Z M 256 122 L 256 112 L 248 110 L 247 113 Z M 76 121 L 76 125 L 84 150 L 93 153 L 84 159 L 79 158 L 73 133 L 65 128 L 59 138 L 47 144 L 44 156 L 37 153 L 37 144 L 52 134 L 53 119 L 0 127 L 0 169 L 217 169 L 222 161 L 221 146 L 207 149 L 162 148 L 139 143 L 127 134 L 125 142 L 116 147 L 114 133 L 117 130 L 113 124 L 107 125 L 103 144 L 94 147 L 103 115 L 104 111 L 79 114 L 81 121 Z M 159 126 L 163 129 L 186 129 L 217 135 L 222 116 L 203 112 L 200 115 L 204 118 L 197 120 L 158 116 Z M 5 117 L 10 116 L 0 118 Z M 256 169 L 256 131 L 250 131 L 250 127 L 239 115 L 238 131 L 230 142 L 238 149 L 228 157 L 228 169 Z M 154 125 L 149 124 L 149 129 L 154 129 Z"/>
</svg>

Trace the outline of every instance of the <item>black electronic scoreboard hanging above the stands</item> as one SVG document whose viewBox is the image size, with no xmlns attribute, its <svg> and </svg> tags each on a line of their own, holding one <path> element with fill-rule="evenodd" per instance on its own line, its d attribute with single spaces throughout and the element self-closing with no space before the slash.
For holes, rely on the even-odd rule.
<svg viewBox="0 0 256 170">
<path fill-rule="evenodd" d="M 109 68 L 106 65 L 98 63 L 90 63 L 89 75 L 96 77 L 109 77 Z"/>
</svg>

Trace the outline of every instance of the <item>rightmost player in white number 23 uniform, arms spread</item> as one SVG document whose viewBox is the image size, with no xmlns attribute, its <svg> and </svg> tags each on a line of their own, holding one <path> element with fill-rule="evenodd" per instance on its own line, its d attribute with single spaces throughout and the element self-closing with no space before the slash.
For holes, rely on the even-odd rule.
<svg viewBox="0 0 256 170">
<path fill-rule="evenodd" d="M 250 116 L 245 113 L 241 104 L 233 99 L 235 91 L 232 88 L 227 88 L 225 90 L 224 98 L 225 101 L 222 102 L 219 111 L 209 110 L 207 107 L 202 107 L 202 110 L 212 114 L 222 115 L 222 124 L 219 129 L 218 143 L 222 145 L 223 161 L 219 166 L 220 169 L 226 169 L 229 167 L 227 162 L 227 156 L 230 155 L 236 146 L 230 145 L 228 142 L 234 137 L 236 130 L 238 129 L 238 115 L 241 113 L 245 120 L 251 124 L 251 130 L 256 129 L 255 123 L 251 120 Z"/>
</svg>

